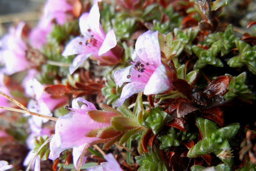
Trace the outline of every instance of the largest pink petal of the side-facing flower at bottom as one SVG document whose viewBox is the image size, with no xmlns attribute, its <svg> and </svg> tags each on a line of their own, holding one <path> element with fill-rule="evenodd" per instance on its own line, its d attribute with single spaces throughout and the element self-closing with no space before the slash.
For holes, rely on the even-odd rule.
<svg viewBox="0 0 256 171">
<path fill-rule="evenodd" d="M 88 115 L 76 112 L 60 116 L 55 124 L 55 135 L 50 142 L 51 152 L 49 159 L 55 160 L 59 157 L 60 152 L 66 149 L 99 140 L 99 138 L 85 137 L 85 135 L 89 130 L 109 126 L 111 126 L 110 123 L 98 123 L 93 121 Z"/>
</svg>

